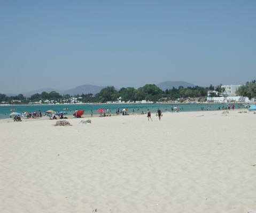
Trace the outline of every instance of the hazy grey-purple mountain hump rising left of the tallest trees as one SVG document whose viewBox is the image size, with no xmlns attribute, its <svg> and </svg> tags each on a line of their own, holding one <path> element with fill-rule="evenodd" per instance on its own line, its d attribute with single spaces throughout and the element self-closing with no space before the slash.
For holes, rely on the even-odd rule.
<svg viewBox="0 0 256 213">
<path fill-rule="evenodd" d="M 103 88 L 105 88 L 106 86 L 95 86 L 95 85 L 88 85 L 88 84 L 85 84 L 85 85 L 82 85 L 82 86 L 78 86 L 78 87 L 75 87 L 73 89 L 67 89 L 67 90 L 64 90 L 64 91 L 60 91 L 59 94 L 61 95 L 65 95 L 65 94 L 69 94 L 69 95 L 77 95 L 77 94 L 97 94 L 99 93 Z"/>
</svg>

